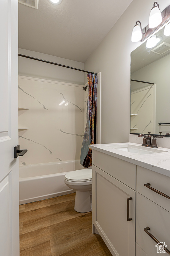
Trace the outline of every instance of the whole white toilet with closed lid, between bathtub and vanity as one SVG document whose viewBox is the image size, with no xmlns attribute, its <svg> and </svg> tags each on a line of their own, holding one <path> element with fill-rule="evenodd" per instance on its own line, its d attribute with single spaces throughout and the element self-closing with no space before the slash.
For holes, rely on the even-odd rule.
<svg viewBox="0 0 170 256">
<path fill-rule="evenodd" d="M 92 169 L 69 172 L 65 175 L 64 182 L 76 191 L 74 210 L 90 212 L 92 210 Z"/>
</svg>

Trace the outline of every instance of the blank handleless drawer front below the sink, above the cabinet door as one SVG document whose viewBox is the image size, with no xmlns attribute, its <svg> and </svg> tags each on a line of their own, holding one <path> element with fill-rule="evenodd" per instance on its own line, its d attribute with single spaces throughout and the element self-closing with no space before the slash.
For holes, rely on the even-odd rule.
<svg viewBox="0 0 170 256">
<path fill-rule="evenodd" d="M 93 150 L 93 164 L 136 190 L 136 165 Z"/>
</svg>

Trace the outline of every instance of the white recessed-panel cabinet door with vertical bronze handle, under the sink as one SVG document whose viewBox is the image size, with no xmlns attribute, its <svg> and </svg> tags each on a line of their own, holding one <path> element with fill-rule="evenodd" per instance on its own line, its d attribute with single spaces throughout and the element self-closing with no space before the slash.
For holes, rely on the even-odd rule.
<svg viewBox="0 0 170 256">
<path fill-rule="evenodd" d="M 132 200 L 128 201 L 128 198 Z M 128 215 L 132 220 L 127 221 Z M 135 255 L 135 191 L 93 166 L 93 224 L 113 255 Z"/>
</svg>

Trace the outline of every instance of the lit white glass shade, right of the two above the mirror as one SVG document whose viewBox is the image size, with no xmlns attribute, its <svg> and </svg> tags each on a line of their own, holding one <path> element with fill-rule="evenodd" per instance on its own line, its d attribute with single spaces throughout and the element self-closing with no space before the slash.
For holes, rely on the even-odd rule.
<svg viewBox="0 0 170 256">
<path fill-rule="evenodd" d="M 155 4 L 155 3 L 154 3 Z M 149 15 L 149 28 L 155 28 L 162 22 L 162 15 L 158 6 L 153 6 Z"/>
</svg>

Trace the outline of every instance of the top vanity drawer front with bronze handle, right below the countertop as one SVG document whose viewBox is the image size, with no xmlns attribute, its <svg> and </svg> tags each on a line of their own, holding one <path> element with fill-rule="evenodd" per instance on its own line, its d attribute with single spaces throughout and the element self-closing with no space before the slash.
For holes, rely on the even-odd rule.
<svg viewBox="0 0 170 256">
<path fill-rule="evenodd" d="M 149 187 L 170 197 L 170 177 L 137 166 L 136 191 L 170 212 L 170 199 L 144 186 L 147 183 L 150 184 Z"/>
</svg>

